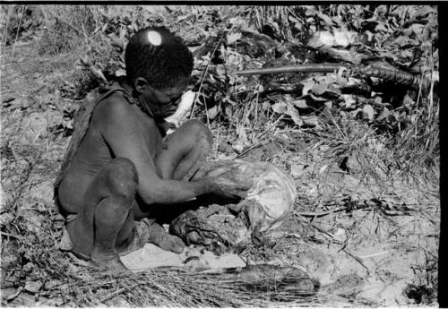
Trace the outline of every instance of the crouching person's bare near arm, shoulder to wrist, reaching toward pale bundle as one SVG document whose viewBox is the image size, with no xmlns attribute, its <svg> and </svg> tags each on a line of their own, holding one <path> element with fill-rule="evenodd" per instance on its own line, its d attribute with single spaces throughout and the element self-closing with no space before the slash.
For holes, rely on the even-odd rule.
<svg viewBox="0 0 448 309">
<path fill-rule="evenodd" d="M 134 162 L 139 177 L 137 192 L 146 204 L 185 202 L 213 191 L 210 179 L 185 182 L 161 179 L 150 150 L 145 147 L 145 134 L 137 121 L 134 108 L 117 96 L 108 99 L 94 113 L 95 125 L 116 158 Z M 154 124 L 154 130 L 157 130 Z M 156 147 L 156 145 L 154 145 Z"/>
</svg>

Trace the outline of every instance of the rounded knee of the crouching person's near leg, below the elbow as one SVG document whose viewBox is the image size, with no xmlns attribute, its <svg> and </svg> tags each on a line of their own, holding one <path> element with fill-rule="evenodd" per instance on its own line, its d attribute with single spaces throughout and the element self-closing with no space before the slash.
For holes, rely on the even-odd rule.
<svg viewBox="0 0 448 309">
<path fill-rule="evenodd" d="M 116 197 L 133 201 L 137 192 L 138 174 L 130 159 L 116 158 L 108 163 L 106 184 Z"/>
</svg>

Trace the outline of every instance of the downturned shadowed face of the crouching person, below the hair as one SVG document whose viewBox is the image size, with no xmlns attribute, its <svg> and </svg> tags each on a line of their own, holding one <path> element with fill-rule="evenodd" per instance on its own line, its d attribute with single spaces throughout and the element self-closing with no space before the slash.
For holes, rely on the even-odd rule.
<svg viewBox="0 0 448 309">
<path fill-rule="evenodd" d="M 177 85 L 170 88 L 155 89 L 147 86 L 142 90 L 144 101 L 151 108 L 154 116 L 167 117 L 174 114 L 184 93 L 188 79 L 183 77 Z"/>
</svg>

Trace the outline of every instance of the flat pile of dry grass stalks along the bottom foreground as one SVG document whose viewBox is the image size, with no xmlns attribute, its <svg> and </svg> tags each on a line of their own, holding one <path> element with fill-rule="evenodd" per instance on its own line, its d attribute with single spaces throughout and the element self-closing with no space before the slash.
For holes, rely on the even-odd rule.
<svg viewBox="0 0 448 309">
<path fill-rule="evenodd" d="M 116 297 L 120 296 L 132 306 L 297 306 L 318 300 L 318 296 L 300 296 L 303 291 L 298 288 L 276 291 L 275 285 L 265 290 L 251 288 L 250 284 L 223 280 L 220 275 L 192 275 L 175 270 L 151 270 L 133 276 L 91 270 L 66 288 L 72 294 L 71 305 L 82 306 L 116 305 Z"/>
</svg>

